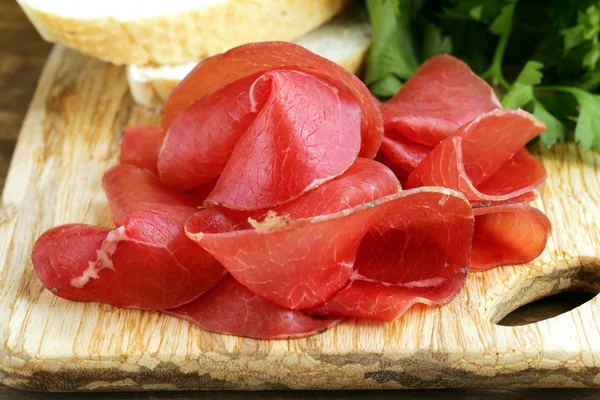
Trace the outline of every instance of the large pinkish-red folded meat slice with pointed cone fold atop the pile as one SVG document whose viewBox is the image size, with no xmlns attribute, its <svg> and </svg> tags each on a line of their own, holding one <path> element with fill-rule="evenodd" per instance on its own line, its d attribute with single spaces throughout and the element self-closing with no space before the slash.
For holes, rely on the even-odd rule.
<svg viewBox="0 0 600 400">
<path fill-rule="evenodd" d="M 360 149 L 351 95 L 297 71 L 272 71 L 206 96 L 171 124 L 158 168 L 190 189 L 219 176 L 207 203 L 252 210 L 341 175 Z"/>
</svg>

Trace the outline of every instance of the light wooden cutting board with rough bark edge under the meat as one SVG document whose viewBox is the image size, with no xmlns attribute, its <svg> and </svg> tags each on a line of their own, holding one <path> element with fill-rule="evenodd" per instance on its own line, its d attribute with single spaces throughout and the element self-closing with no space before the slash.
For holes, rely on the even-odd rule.
<svg viewBox="0 0 600 400">
<path fill-rule="evenodd" d="M 111 226 L 101 178 L 121 131 L 159 119 L 134 106 L 122 68 L 54 49 L 0 213 L 1 383 L 54 391 L 600 386 L 598 297 L 534 324 L 495 324 L 549 294 L 600 291 L 600 157 L 574 145 L 536 149 L 549 175 L 536 205 L 553 224 L 542 256 L 471 274 L 449 305 L 415 306 L 393 323 L 259 341 L 43 290 L 30 261 L 34 240 L 68 222 Z"/>
</svg>

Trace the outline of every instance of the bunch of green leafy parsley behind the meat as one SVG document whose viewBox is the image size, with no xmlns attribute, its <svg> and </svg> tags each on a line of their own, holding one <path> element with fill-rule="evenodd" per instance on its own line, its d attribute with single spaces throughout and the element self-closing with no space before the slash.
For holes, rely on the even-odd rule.
<svg viewBox="0 0 600 400">
<path fill-rule="evenodd" d="M 548 146 L 600 153 L 600 0 L 366 0 L 374 29 L 365 81 L 393 96 L 425 59 L 451 53 L 505 108 L 543 121 Z"/>
</svg>

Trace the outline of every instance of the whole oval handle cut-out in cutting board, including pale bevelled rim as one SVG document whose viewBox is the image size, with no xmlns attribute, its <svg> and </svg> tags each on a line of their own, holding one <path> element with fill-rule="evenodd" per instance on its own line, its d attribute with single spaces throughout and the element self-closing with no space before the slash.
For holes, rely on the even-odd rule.
<svg viewBox="0 0 600 400">
<path fill-rule="evenodd" d="M 518 283 L 491 307 L 491 322 L 500 326 L 536 323 L 567 313 L 600 293 L 600 259 L 581 257 L 561 263 L 537 276 L 522 270 Z"/>
</svg>

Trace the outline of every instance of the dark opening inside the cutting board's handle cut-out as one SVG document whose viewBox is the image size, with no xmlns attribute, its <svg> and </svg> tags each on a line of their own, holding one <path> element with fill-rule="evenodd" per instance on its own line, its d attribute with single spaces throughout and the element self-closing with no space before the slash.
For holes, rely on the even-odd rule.
<svg viewBox="0 0 600 400">
<path fill-rule="evenodd" d="M 569 312 L 572 309 L 587 303 L 597 294 L 598 293 L 592 291 L 569 290 L 543 297 L 511 311 L 496 324 L 502 326 L 520 326 L 543 321 Z"/>
</svg>

